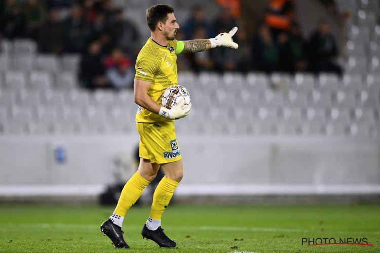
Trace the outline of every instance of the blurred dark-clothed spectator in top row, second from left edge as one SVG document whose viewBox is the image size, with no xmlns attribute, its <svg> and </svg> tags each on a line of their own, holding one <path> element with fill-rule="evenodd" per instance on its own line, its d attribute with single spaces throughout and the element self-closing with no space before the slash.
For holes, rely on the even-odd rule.
<svg viewBox="0 0 380 253">
<path fill-rule="evenodd" d="M 27 0 L 23 7 L 25 19 L 25 36 L 37 39 L 38 30 L 46 18 L 45 6 L 37 0 Z"/>
</svg>

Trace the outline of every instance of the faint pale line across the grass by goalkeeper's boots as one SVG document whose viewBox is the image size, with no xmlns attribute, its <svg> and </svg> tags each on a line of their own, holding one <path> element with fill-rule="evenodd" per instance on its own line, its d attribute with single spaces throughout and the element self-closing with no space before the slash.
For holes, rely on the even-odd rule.
<svg viewBox="0 0 380 253">
<path fill-rule="evenodd" d="M 6 223 L 8 226 L 23 226 L 23 227 L 42 227 L 42 228 L 82 228 L 82 229 L 100 229 L 99 225 L 93 224 L 69 224 L 69 223 Z M 142 225 L 141 225 L 142 226 Z M 141 226 L 126 225 L 124 229 L 140 229 Z M 252 231 L 252 232 L 281 232 L 281 233 L 313 233 L 316 230 L 307 229 L 287 229 L 287 228 L 262 228 L 262 227 L 227 227 L 227 226 L 166 226 L 167 228 L 175 229 L 200 229 L 200 230 L 215 230 L 215 231 Z M 341 233 L 341 234 L 380 234 L 380 231 L 343 231 L 343 230 L 325 230 L 324 233 Z"/>
</svg>

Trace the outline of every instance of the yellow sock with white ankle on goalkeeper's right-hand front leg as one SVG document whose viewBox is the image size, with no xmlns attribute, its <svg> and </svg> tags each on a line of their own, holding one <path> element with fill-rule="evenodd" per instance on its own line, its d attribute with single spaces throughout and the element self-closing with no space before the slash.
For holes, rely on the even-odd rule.
<svg viewBox="0 0 380 253">
<path fill-rule="evenodd" d="M 153 203 L 151 204 L 150 216 L 146 221 L 146 227 L 149 230 L 156 230 L 161 226 L 161 217 L 165 208 L 168 206 L 170 199 L 173 196 L 175 188 L 178 186 L 178 182 L 163 177 L 158 184 L 155 194 L 153 195 Z"/>
</svg>

